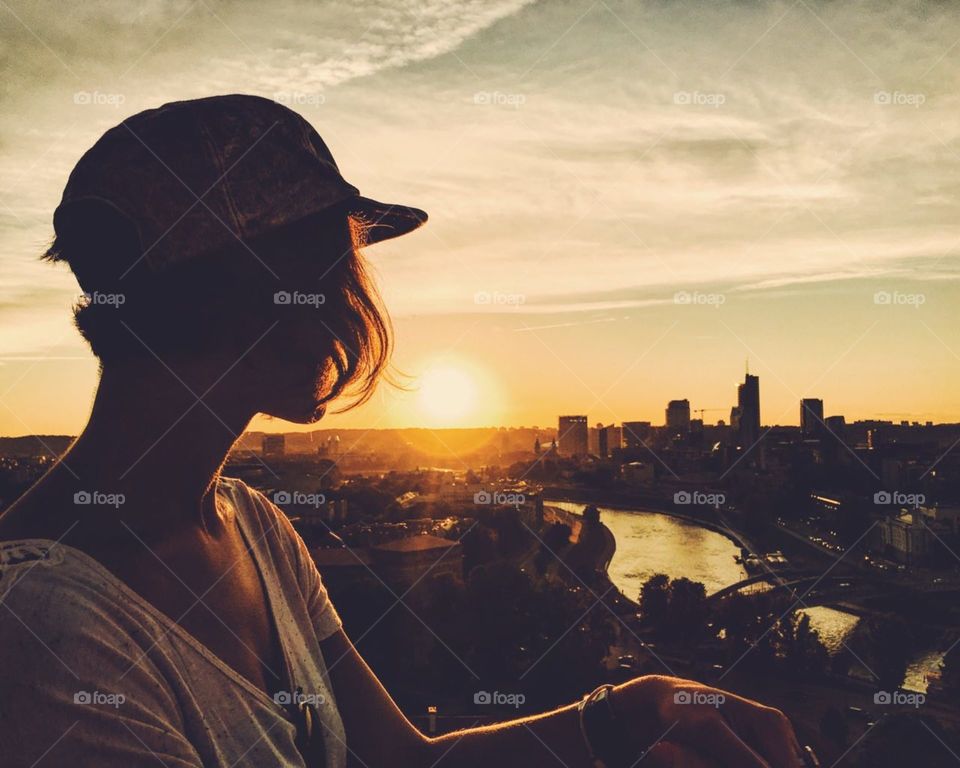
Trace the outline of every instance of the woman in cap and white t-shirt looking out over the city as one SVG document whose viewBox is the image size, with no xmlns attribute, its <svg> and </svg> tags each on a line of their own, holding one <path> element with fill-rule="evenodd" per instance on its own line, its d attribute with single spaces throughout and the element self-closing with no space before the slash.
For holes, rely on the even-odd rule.
<svg viewBox="0 0 960 768">
<path fill-rule="evenodd" d="M 426 215 L 359 196 L 312 127 L 251 96 L 108 131 L 48 258 L 85 292 L 90 420 L 0 518 L 0 753 L 16 766 L 802 764 L 784 716 L 667 677 L 427 738 L 344 634 L 303 543 L 220 474 L 257 413 L 370 396 L 388 320 L 358 250 Z"/>
</svg>

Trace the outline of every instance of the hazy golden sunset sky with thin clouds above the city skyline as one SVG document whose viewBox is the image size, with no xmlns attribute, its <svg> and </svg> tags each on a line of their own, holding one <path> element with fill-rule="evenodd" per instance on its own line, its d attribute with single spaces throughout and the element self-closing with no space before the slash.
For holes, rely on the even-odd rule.
<svg viewBox="0 0 960 768">
<path fill-rule="evenodd" d="M 4 0 L 0 35 L 0 434 L 89 410 L 77 285 L 38 260 L 73 164 L 227 92 L 431 216 L 367 252 L 413 389 L 321 426 L 713 422 L 747 359 L 765 424 L 960 421 L 957 6 Z"/>
</svg>

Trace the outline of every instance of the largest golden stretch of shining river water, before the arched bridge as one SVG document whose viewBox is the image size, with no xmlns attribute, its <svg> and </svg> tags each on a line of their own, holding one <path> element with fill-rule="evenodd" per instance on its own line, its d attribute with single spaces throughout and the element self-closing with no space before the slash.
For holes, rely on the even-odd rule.
<svg viewBox="0 0 960 768">
<path fill-rule="evenodd" d="M 583 504 L 561 501 L 552 506 L 582 512 Z M 698 525 L 659 512 L 600 507 L 600 520 L 617 540 L 610 578 L 629 598 L 655 573 L 700 581 L 707 593 L 747 577 L 734 558 L 740 549 L 730 539 Z"/>
</svg>

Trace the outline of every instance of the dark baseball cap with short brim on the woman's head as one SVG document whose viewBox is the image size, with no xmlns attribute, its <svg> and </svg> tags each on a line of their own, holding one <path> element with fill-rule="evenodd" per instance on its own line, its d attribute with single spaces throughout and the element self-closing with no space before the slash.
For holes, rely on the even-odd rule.
<svg viewBox="0 0 960 768">
<path fill-rule="evenodd" d="M 335 206 L 364 221 L 367 243 L 427 220 L 418 208 L 361 196 L 306 119 L 245 94 L 171 102 L 108 130 L 67 180 L 57 237 L 81 231 L 97 204 L 136 230 L 135 263 L 151 272 Z"/>
</svg>

